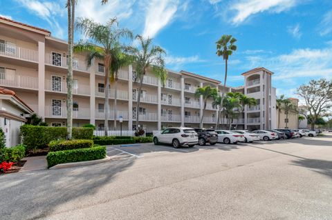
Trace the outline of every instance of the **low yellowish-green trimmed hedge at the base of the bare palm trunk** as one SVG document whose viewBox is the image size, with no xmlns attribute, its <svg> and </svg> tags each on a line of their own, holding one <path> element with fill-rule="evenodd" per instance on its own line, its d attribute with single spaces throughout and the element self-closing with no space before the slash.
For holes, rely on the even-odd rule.
<svg viewBox="0 0 332 220">
<path fill-rule="evenodd" d="M 50 141 L 49 144 L 50 152 L 51 151 L 60 151 L 60 150 L 73 150 L 79 148 L 92 148 L 93 141 L 92 140 L 62 140 L 62 141 Z"/>
</svg>

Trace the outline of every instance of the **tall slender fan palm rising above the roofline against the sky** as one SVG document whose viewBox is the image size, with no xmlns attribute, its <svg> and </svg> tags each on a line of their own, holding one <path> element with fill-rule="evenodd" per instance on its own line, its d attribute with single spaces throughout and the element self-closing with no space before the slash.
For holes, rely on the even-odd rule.
<svg viewBox="0 0 332 220">
<path fill-rule="evenodd" d="M 225 87 L 227 80 L 227 70 L 228 70 L 228 58 L 237 50 L 237 46 L 234 44 L 237 41 L 232 35 L 224 34 L 221 38 L 216 41 L 216 55 L 218 57 L 223 57 L 225 61 L 225 79 L 223 81 L 223 94 L 221 99 L 225 95 Z"/>
</svg>

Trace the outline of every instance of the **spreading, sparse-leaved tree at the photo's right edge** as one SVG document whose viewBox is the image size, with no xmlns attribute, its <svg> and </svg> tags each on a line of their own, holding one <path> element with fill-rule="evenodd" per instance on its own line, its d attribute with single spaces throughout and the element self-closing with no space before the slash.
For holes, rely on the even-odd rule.
<svg viewBox="0 0 332 220">
<path fill-rule="evenodd" d="M 311 80 L 297 88 L 297 94 L 306 102 L 308 114 L 304 114 L 311 129 L 315 128 L 315 121 L 319 117 L 331 115 L 332 108 L 332 80 Z"/>
</svg>

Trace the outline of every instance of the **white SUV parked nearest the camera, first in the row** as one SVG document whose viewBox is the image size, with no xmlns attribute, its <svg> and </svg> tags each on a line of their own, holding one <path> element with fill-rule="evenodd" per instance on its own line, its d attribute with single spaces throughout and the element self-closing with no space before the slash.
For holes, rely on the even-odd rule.
<svg viewBox="0 0 332 220">
<path fill-rule="evenodd" d="M 199 135 L 192 128 L 166 128 L 154 134 L 154 144 L 172 144 L 174 148 L 181 146 L 193 147 L 199 142 Z"/>
</svg>

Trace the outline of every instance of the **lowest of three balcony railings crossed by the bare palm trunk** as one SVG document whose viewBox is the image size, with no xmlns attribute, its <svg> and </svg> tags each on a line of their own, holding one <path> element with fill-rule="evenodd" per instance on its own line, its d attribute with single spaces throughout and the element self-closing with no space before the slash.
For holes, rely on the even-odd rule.
<svg viewBox="0 0 332 220">
<path fill-rule="evenodd" d="M 67 117 L 67 108 L 60 106 L 45 106 L 46 118 L 59 118 Z M 90 108 L 74 108 L 73 119 L 90 119 Z"/>
</svg>

